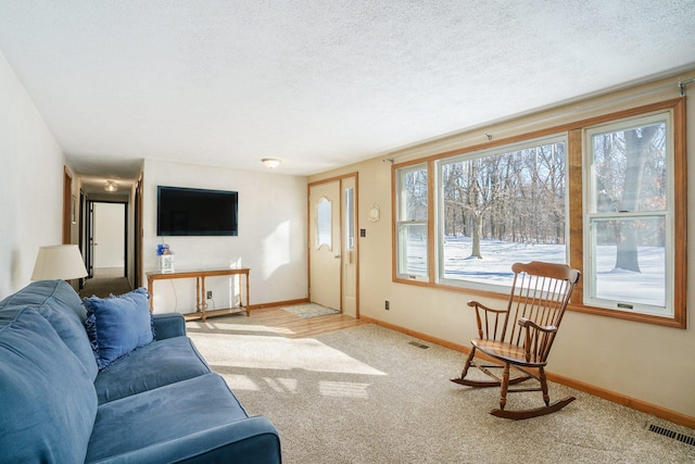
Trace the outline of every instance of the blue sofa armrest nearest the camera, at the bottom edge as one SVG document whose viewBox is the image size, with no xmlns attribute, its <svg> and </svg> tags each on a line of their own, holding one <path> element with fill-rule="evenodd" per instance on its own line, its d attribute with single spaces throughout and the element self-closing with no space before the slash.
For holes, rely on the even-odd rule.
<svg viewBox="0 0 695 464">
<path fill-rule="evenodd" d="M 282 462 L 280 437 L 265 416 L 253 416 L 113 456 L 103 462 Z"/>
</svg>

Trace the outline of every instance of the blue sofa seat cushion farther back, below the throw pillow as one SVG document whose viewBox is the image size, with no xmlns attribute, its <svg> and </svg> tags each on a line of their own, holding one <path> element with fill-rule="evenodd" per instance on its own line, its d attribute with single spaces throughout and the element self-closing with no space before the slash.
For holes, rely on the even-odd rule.
<svg viewBox="0 0 695 464">
<path fill-rule="evenodd" d="M 94 380 L 99 404 L 210 373 L 188 337 L 174 337 L 139 348 L 127 362 L 113 363 Z"/>
</svg>

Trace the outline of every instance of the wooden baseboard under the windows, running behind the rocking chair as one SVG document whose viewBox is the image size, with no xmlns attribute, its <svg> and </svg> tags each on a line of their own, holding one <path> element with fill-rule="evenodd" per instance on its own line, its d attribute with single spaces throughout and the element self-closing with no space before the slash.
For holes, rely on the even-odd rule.
<svg viewBox="0 0 695 464">
<path fill-rule="evenodd" d="M 409 328 L 401 327 L 395 324 L 390 324 L 383 321 L 375 319 L 368 316 L 361 316 L 361 321 L 368 322 L 381 327 L 389 328 L 391 330 L 400 331 L 405 335 L 409 335 L 412 337 L 419 338 L 420 340 L 429 341 L 431 343 L 439 344 L 444 348 L 448 348 L 455 351 L 460 351 L 463 353 L 469 353 L 470 348 L 453 343 L 451 341 L 432 337 L 430 335 L 424 334 L 421 331 L 412 330 Z M 462 360 L 463 364 L 463 360 Z M 695 429 L 695 417 L 688 416 L 686 414 L 679 413 L 678 411 L 669 410 L 667 407 L 659 406 L 657 404 L 648 403 L 646 401 L 639 400 L 636 398 L 631 398 L 626 394 L 617 393 L 611 390 L 607 390 L 605 388 L 596 387 L 591 384 L 586 384 L 580 380 L 576 380 L 573 378 L 565 377 L 558 374 L 553 374 L 546 371 L 547 379 L 554 381 L 556 384 L 564 385 L 566 387 L 573 388 L 576 390 L 583 391 L 589 394 L 593 394 L 594 397 L 603 398 L 604 400 L 611 401 L 617 404 L 621 404 L 623 406 L 633 409 L 635 411 L 640 411 L 646 414 L 654 415 L 656 417 L 672 422 L 674 424 L 683 425 L 685 427 L 690 427 Z"/>
</svg>

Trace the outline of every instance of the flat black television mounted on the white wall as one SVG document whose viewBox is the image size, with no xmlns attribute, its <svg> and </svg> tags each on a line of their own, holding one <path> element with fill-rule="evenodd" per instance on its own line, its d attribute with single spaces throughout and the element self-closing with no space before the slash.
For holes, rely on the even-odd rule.
<svg viewBox="0 0 695 464">
<path fill-rule="evenodd" d="M 156 188 L 157 236 L 236 236 L 236 191 Z"/>
</svg>

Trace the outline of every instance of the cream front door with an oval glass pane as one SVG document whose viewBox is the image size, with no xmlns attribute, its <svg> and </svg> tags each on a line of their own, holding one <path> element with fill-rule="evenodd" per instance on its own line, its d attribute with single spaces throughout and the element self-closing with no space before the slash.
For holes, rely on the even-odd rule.
<svg viewBox="0 0 695 464">
<path fill-rule="evenodd" d="M 309 187 L 309 299 L 341 311 L 340 180 Z"/>
</svg>

